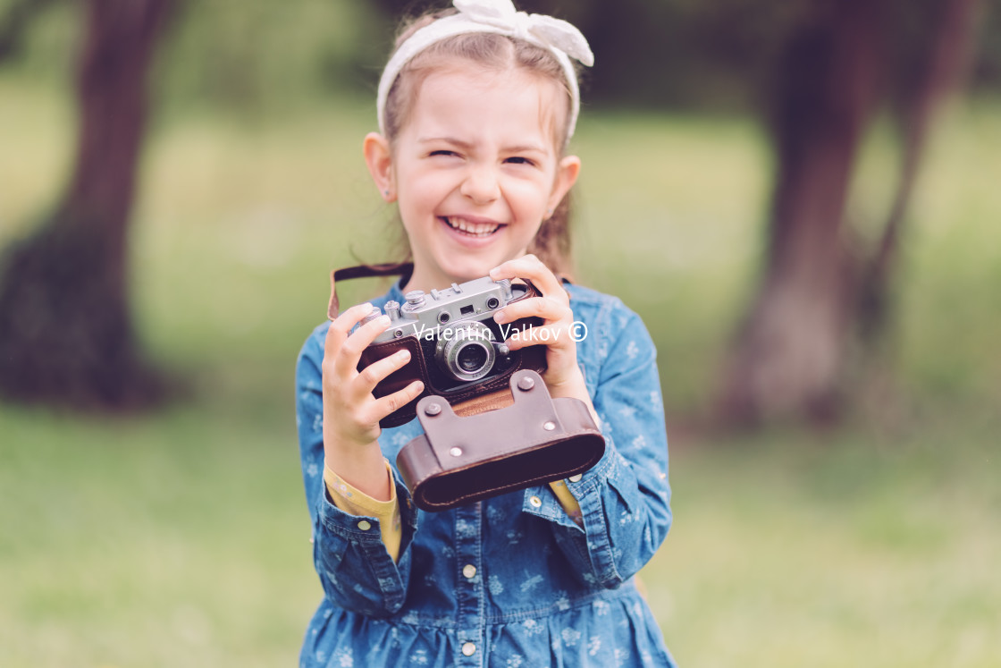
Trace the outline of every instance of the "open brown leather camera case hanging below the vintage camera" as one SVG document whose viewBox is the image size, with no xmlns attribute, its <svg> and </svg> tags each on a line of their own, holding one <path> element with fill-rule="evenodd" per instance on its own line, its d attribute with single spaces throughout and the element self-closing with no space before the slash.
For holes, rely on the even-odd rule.
<svg viewBox="0 0 1001 668">
<path fill-rule="evenodd" d="M 417 404 L 424 434 L 403 446 L 396 466 L 413 501 L 443 511 L 569 478 L 595 466 L 605 439 L 584 402 L 553 399 L 542 377 L 510 379 L 509 406 L 461 417 L 441 397 Z"/>
</svg>

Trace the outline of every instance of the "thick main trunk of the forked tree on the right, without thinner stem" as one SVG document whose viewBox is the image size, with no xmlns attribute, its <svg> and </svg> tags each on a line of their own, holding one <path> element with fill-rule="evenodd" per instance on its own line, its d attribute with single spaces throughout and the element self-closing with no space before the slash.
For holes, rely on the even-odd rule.
<svg viewBox="0 0 1001 668">
<path fill-rule="evenodd" d="M 828 419 L 839 406 L 854 273 L 845 202 L 882 83 L 884 3 L 816 7 L 779 69 L 768 261 L 717 404 L 732 425 Z"/>
</svg>

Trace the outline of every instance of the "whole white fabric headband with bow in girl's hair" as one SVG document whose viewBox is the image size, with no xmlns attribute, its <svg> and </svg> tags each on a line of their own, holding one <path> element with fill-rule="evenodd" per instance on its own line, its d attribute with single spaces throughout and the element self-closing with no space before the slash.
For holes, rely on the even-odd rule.
<svg viewBox="0 0 1001 668">
<path fill-rule="evenodd" d="M 457 14 L 440 18 L 414 32 L 399 45 L 382 70 L 376 102 L 378 127 L 382 134 L 385 134 L 385 98 L 406 63 L 431 44 L 443 39 L 467 33 L 490 32 L 524 39 L 543 47 L 556 57 L 570 86 L 571 113 L 567 132 L 567 138 L 570 139 L 574 135 L 581 109 L 581 91 L 578 89 L 577 72 L 574 71 L 570 56 L 589 67 L 595 64 L 595 55 L 581 31 L 567 21 L 552 16 L 517 11 L 512 0 L 452 0 L 452 4 L 458 10 Z"/>
</svg>

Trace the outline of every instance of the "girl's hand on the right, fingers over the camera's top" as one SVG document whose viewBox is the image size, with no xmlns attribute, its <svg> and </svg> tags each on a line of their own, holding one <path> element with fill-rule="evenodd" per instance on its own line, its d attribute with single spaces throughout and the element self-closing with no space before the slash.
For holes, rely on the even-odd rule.
<svg viewBox="0 0 1001 668">
<path fill-rule="evenodd" d="M 509 260 L 490 270 L 490 278 L 524 278 L 531 280 L 542 296 L 523 299 L 502 308 L 493 317 L 500 323 L 513 322 L 522 317 L 536 315 L 542 317 L 542 325 L 528 331 L 531 336 L 508 340 L 508 348 L 513 351 L 528 346 L 547 346 L 547 370 L 543 375 L 546 387 L 553 397 L 574 397 L 589 408 L 591 398 L 584 383 L 584 374 L 577 366 L 577 342 L 574 340 L 574 311 L 570 307 L 570 295 L 560 279 L 535 255 L 524 255 Z"/>
</svg>

